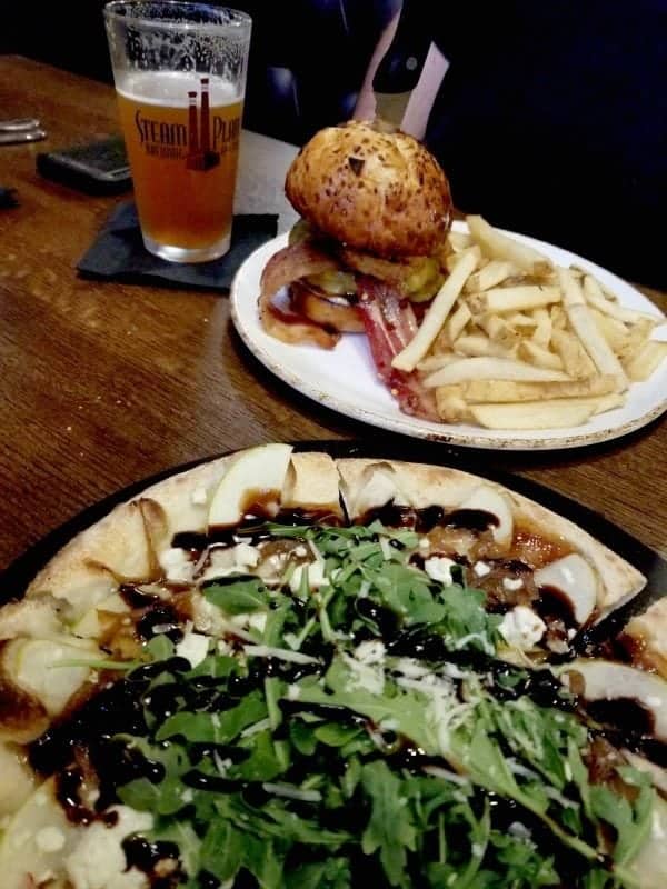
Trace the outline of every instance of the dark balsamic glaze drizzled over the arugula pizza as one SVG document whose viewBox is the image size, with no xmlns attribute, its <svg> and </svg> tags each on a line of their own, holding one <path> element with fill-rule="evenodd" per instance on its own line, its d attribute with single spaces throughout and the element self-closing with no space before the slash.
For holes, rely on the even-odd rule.
<svg viewBox="0 0 667 889">
<path fill-rule="evenodd" d="M 252 505 L 248 512 L 243 522 L 233 528 L 213 528 L 208 533 L 177 533 L 173 536 L 171 546 L 189 550 L 192 557 L 197 558 L 207 547 L 232 546 L 236 542 L 235 538 L 241 537 L 253 546 L 271 539 L 272 535 L 265 523 L 267 518 L 291 526 L 319 522 L 322 518 L 326 518 L 329 525 L 340 523 L 338 517 L 330 515 L 322 517 L 300 510 L 281 511 L 275 517 L 268 515 L 262 517 L 262 506 L 258 503 Z M 418 533 L 428 533 L 436 527 L 462 528 L 479 533 L 499 523 L 496 516 L 484 510 L 446 511 L 436 506 L 416 510 L 397 506 L 392 501 L 369 510 L 357 519 L 357 522 L 368 525 L 376 519 L 385 526 L 412 529 Z M 397 549 L 404 548 L 398 540 L 391 540 L 390 546 Z M 460 561 L 462 565 L 468 563 L 465 557 L 460 557 Z M 507 567 L 517 572 L 529 570 L 522 562 L 511 563 L 511 566 L 507 563 Z M 248 577 L 253 578 L 255 576 Z M 238 582 L 238 580 L 239 577 L 235 576 L 217 578 L 211 582 L 223 586 Z M 182 638 L 182 630 L 179 626 L 182 622 L 181 617 L 170 603 L 166 603 L 155 593 L 146 592 L 131 583 L 122 585 L 120 593 L 130 608 L 143 611 L 137 622 L 137 632 L 141 638 L 150 639 L 158 631 L 165 632 L 165 627 L 169 628 L 166 635 L 173 642 Z M 547 597 L 547 600 L 548 606 L 546 607 L 551 613 L 556 609 L 556 602 L 554 597 Z M 557 605 L 560 606 L 560 602 Z M 375 603 L 369 598 L 358 599 L 356 609 L 367 622 L 366 627 L 357 632 L 356 642 L 379 633 L 385 640 L 387 653 L 390 656 L 409 657 L 429 663 L 449 661 L 490 676 L 489 681 L 494 685 L 495 693 L 500 699 L 511 700 L 527 695 L 542 707 L 558 707 L 564 710 L 574 710 L 576 707 L 574 699 L 563 693 L 560 682 L 547 671 L 535 671 L 511 687 L 505 686 L 501 681 L 496 680 L 501 680 L 504 673 L 509 675 L 511 670 L 507 665 L 495 661 L 478 651 L 452 652 L 448 650 L 442 637 L 430 633 L 424 627 L 401 627 L 400 620 L 394 611 Z M 146 722 L 148 717 L 165 719 L 183 708 L 221 712 L 236 706 L 248 692 L 261 687 L 266 677 L 279 676 L 288 682 L 295 682 L 313 671 L 323 673 L 335 653 L 332 646 L 322 646 L 316 650 L 313 647 L 306 646 L 303 650 L 315 655 L 319 659 L 319 663 L 303 666 L 271 658 L 253 659 L 248 676 L 232 675 L 228 677 L 225 688 L 221 688 L 220 679 L 206 676 L 189 683 L 179 681 L 179 673 L 190 670 L 190 663 L 183 658 L 172 657 L 168 661 L 143 665 L 135 669 L 131 675 L 112 685 L 107 685 L 96 697 L 88 700 L 73 713 L 53 723 L 30 745 L 30 762 L 43 776 L 56 775 L 57 797 L 68 819 L 79 825 L 90 823 L 102 818 L 104 809 L 119 801 L 118 787 L 137 778 L 146 778 L 153 783 L 158 783 L 165 778 L 165 768 L 161 763 L 151 761 L 137 750 L 116 741 L 116 735 L 146 736 L 148 735 Z M 162 673 L 171 673 L 172 681 L 163 682 L 149 690 L 151 680 Z M 101 685 L 103 686 L 103 682 Z M 298 700 L 283 699 L 279 702 L 279 707 L 285 719 L 276 733 L 277 739 L 287 736 L 289 718 L 299 712 L 302 705 Z M 308 705 L 308 709 L 323 719 L 358 726 L 367 730 L 375 729 L 366 717 L 358 716 L 344 707 Z M 605 716 L 610 723 L 617 722 L 609 712 L 606 712 Z M 627 725 L 627 721 L 625 723 Z M 637 730 L 628 729 L 624 737 L 618 730 L 609 728 L 607 737 L 617 746 L 630 747 L 659 765 L 667 765 L 667 745 L 646 737 L 650 733 L 650 725 L 646 722 L 638 725 Z M 178 740 L 179 738 L 172 739 L 172 741 Z M 440 758 L 427 756 L 424 750 L 402 736 L 385 732 L 382 741 L 386 745 L 384 757 L 396 767 L 417 772 L 421 771 L 425 766 L 441 763 Z M 169 741 L 163 743 L 168 746 Z M 94 771 L 99 781 L 100 793 L 94 803 L 86 801 L 86 775 L 79 758 L 72 758 L 73 750 L 84 751 L 89 767 Z M 182 778 L 186 786 L 198 791 L 219 793 L 240 791 L 249 805 L 257 807 L 261 807 L 269 799 L 269 795 L 257 782 L 228 779 L 222 775 L 210 773 L 206 770 L 206 760 L 213 755 L 221 759 L 229 759 L 233 763 L 240 763 L 250 756 L 250 751 L 233 745 L 213 743 L 189 745 L 188 750 L 192 768 Z M 377 755 L 379 756 L 379 753 Z M 316 760 L 318 756 L 320 755 L 315 756 Z M 311 760 L 308 768 L 312 765 Z M 329 768 L 331 767 L 329 761 L 323 765 L 325 769 L 327 765 Z M 307 768 L 307 766 L 303 765 L 302 768 Z M 517 812 L 515 803 L 492 793 L 488 795 L 488 798 L 494 810 L 496 826 L 504 823 L 509 826 L 517 820 L 519 812 Z M 365 817 L 364 812 L 358 813 L 360 828 L 362 828 Z M 337 822 L 337 813 L 334 810 L 323 812 L 322 818 L 325 827 L 331 829 L 344 826 L 354 828 L 351 821 L 355 816 L 350 816 L 347 810 L 345 825 Z M 539 837 L 544 830 L 541 823 L 537 819 L 530 820 L 529 813 L 524 810 L 520 811 L 520 820 L 528 825 L 534 837 Z M 179 860 L 179 850 L 175 843 L 150 842 L 141 837 L 132 837 L 123 841 L 123 851 L 128 867 L 136 867 L 145 872 L 152 889 L 173 889 L 185 878 Z M 575 873 L 575 863 L 573 862 L 571 866 L 568 863 L 565 870 Z M 382 875 L 377 871 L 377 866 L 360 855 L 352 856 L 352 875 L 355 885 L 367 879 L 372 879 L 374 882 L 382 880 Z M 220 881 L 212 873 L 203 870 L 197 876 L 197 880 L 201 889 L 218 889 L 220 886 Z M 417 886 L 418 882 L 418 877 L 415 875 L 415 885 Z"/>
</svg>

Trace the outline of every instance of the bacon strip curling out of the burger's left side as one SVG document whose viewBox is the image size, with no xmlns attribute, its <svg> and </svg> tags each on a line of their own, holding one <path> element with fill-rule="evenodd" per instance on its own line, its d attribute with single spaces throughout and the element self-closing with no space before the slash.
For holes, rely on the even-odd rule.
<svg viewBox="0 0 667 889">
<path fill-rule="evenodd" d="M 308 274 L 338 269 L 338 262 L 308 241 L 283 247 L 267 262 L 261 274 L 259 320 L 271 337 L 287 343 L 309 342 L 322 349 L 332 349 L 340 332 L 295 312 L 286 312 L 272 299 L 282 288 Z"/>
</svg>

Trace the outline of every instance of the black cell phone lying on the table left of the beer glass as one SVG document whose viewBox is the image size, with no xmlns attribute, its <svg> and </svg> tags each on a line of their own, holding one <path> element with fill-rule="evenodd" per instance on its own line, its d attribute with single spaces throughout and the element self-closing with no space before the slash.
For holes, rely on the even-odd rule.
<svg viewBox="0 0 667 889">
<path fill-rule="evenodd" d="M 132 187 L 121 136 L 42 151 L 37 169 L 47 179 L 89 194 L 120 194 Z"/>
</svg>

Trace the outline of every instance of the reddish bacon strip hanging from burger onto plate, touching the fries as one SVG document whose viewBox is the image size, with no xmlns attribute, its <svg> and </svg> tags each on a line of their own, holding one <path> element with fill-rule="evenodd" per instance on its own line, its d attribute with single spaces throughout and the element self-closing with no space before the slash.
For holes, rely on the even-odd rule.
<svg viewBox="0 0 667 889">
<path fill-rule="evenodd" d="M 359 310 L 378 373 L 404 413 L 439 421 L 435 392 L 422 386 L 416 371 L 406 373 L 391 367 L 391 360 L 417 332 L 411 304 L 388 284 L 374 278 L 358 278 Z"/>
</svg>

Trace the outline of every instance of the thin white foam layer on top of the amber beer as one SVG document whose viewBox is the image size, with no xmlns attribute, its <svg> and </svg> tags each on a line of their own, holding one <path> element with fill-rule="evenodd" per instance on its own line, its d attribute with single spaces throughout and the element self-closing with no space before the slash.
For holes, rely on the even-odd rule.
<svg viewBox="0 0 667 889">
<path fill-rule="evenodd" d="M 208 77 L 212 107 L 239 102 L 243 98 L 237 87 L 215 74 L 195 71 L 141 71 L 126 74 L 117 83 L 117 92 L 135 102 L 145 102 L 165 108 L 187 108 L 188 92 L 197 92 L 200 79 Z"/>
</svg>

